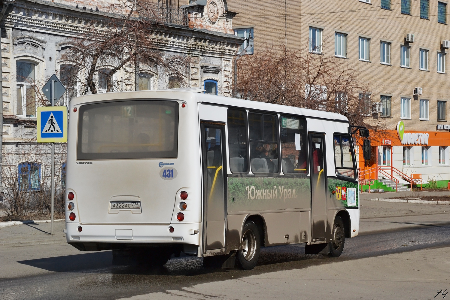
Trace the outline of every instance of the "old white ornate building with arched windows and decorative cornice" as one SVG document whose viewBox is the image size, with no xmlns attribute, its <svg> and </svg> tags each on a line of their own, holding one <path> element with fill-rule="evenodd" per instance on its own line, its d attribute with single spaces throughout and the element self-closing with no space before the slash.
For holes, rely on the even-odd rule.
<svg viewBox="0 0 450 300">
<path fill-rule="evenodd" d="M 18 190 L 24 193 L 49 186 L 49 145 L 36 143 L 36 107 L 47 105 L 39 91 L 56 73 L 68 85 L 61 98 L 63 105 L 87 92 L 81 90 L 79 84 L 70 84 L 73 63 L 63 59 L 69 47 L 67 40 L 85 33 L 85 24 L 90 21 L 98 21 L 100 26 L 106 15 L 104 8 L 116 2 L 118 0 L 18 0 L 9 4 L 12 9 L 1 24 L 5 193 L 8 193 L 7 185 L 14 180 Z M 227 95 L 234 55 L 243 42 L 232 30 L 236 13 L 228 11 L 226 0 L 184 0 L 176 5 L 175 0 L 164 0 L 164 4 L 157 2 L 155 0 L 165 26 L 153 30 L 149 38 L 164 56 L 189 57 L 185 78 L 182 83 L 178 82 L 171 74 L 155 67 L 141 68 L 139 72 L 124 68 L 113 79 L 128 76 L 134 82 L 121 83 L 118 89 L 162 90 L 184 85 Z M 105 66 L 108 67 L 114 66 Z M 130 72 L 135 72 L 134 76 L 130 76 Z M 82 81 L 84 74 L 77 76 Z M 102 74 L 96 76 L 97 89 L 102 92 Z M 64 147 L 57 147 L 57 183 L 64 180 Z"/>
</svg>

